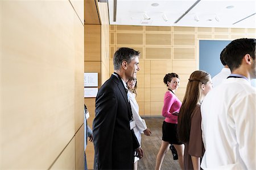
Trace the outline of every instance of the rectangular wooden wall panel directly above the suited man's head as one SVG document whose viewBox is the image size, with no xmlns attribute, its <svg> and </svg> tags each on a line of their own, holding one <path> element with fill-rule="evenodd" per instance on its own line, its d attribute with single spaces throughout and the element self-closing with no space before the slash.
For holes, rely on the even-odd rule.
<svg viewBox="0 0 256 170">
<path fill-rule="evenodd" d="M 117 33 L 117 45 L 142 45 L 143 34 L 142 33 Z"/>
</svg>

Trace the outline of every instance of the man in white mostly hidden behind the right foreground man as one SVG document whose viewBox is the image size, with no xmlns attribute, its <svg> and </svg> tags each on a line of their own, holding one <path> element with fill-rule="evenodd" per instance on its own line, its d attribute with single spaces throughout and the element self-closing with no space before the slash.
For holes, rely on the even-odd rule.
<svg viewBox="0 0 256 170">
<path fill-rule="evenodd" d="M 216 76 L 214 76 L 212 78 L 212 85 L 213 85 L 213 88 L 217 87 L 218 85 L 221 84 L 221 82 L 223 80 L 225 80 L 229 74 L 231 73 L 228 65 L 226 65 L 224 59 L 223 59 L 223 53 L 225 51 L 225 48 L 221 51 L 221 54 L 220 54 L 220 60 L 221 60 L 221 63 L 224 65 L 224 68 L 221 69 L 221 72 L 216 74 Z"/>
</svg>

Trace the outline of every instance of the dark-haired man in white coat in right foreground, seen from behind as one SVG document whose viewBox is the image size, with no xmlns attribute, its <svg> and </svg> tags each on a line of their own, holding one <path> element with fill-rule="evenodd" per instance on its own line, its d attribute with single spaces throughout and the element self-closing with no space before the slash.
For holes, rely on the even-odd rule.
<svg viewBox="0 0 256 170">
<path fill-rule="evenodd" d="M 237 39 L 226 46 L 224 60 L 232 74 L 211 90 L 201 105 L 205 153 L 201 168 L 256 169 L 255 39 Z"/>
</svg>

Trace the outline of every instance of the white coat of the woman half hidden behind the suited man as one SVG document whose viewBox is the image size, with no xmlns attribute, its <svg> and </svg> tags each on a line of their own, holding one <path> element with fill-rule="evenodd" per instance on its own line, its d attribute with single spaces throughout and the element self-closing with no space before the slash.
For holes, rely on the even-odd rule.
<svg viewBox="0 0 256 170">
<path fill-rule="evenodd" d="M 131 93 L 131 91 L 128 90 L 127 96 L 129 98 L 131 112 L 133 113 L 133 119 L 136 125 L 133 128 L 134 134 L 138 139 L 139 145 L 141 145 L 141 134 L 143 134 L 143 131 L 147 129 L 147 125 L 143 122 L 141 116 L 139 115 L 139 105 L 135 99 L 135 94 Z M 137 160 L 139 160 L 139 158 L 135 157 L 134 162 Z"/>
</svg>

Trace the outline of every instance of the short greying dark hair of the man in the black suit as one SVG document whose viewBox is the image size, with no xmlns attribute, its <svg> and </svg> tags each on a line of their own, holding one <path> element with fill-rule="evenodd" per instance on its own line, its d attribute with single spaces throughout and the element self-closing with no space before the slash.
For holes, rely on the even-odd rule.
<svg viewBox="0 0 256 170">
<path fill-rule="evenodd" d="M 123 61 L 126 61 L 128 64 L 131 62 L 133 57 L 139 57 L 139 51 L 135 51 L 131 48 L 122 47 L 119 48 L 113 58 L 114 70 L 119 70 Z"/>
</svg>

